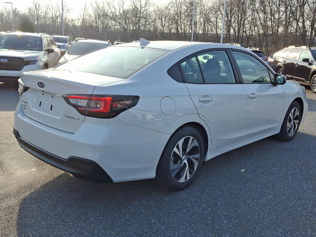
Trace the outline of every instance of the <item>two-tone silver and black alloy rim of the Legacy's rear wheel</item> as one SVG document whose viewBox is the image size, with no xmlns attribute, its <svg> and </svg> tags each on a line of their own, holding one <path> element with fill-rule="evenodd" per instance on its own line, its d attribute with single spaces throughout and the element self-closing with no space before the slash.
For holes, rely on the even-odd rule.
<svg viewBox="0 0 316 237">
<path fill-rule="evenodd" d="M 184 137 L 174 147 L 170 158 L 170 172 L 179 183 L 190 179 L 197 169 L 200 147 L 194 137 Z"/>
</svg>

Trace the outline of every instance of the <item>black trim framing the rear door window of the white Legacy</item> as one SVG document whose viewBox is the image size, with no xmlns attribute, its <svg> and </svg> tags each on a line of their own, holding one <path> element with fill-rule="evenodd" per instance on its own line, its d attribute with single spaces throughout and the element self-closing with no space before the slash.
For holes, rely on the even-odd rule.
<svg viewBox="0 0 316 237">
<path fill-rule="evenodd" d="M 203 78 L 203 82 L 199 82 L 199 83 L 194 83 L 194 82 L 186 82 L 185 81 L 185 74 L 184 74 L 184 71 L 181 67 L 181 63 L 185 62 L 187 59 L 189 58 L 196 58 L 197 59 L 197 55 L 201 54 L 201 53 L 205 53 L 205 52 L 211 52 L 211 51 L 226 51 L 226 54 L 227 54 L 227 57 L 228 57 L 228 60 L 230 62 L 230 65 L 232 67 L 232 70 L 233 70 L 233 74 L 234 74 L 234 78 L 235 78 L 235 82 L 228 82 L 228 83 L 204 83 L 204 76 L 203 76 L 203 73 L 202 73 L 202 68 L 200 66 L 200 63 L 199 64 L 199 69 L 201 71 L 201 75 L 202 75 L 202 78 Z M 197 60 L 198 62 L 198 60 Z M 179 69 L 181 71 L 181 74 L 182 74 L 182 78 L 183 78 L 183 81 L 184 82 L 181 82 L 181 83 L 187 83 L 187 84 L 219 84 L 219 85 L 229 85 L 229 84 L 241 84 L 241 81 L 240 81 L 240 76 L 238 74 L 238 71 L 237 69 L 235 68 L 235 64 L 234 64 L 234 61 L 233 61 L 233 58 L 232 56 L 230 55 L 229 53 L 229 49 L 228 48 L 211 48 L 211 49 L 204 49 L 204 50 L 201 50 L 201 51 L 198 51 L 198 52 L 195 52 L 195 53 L 192 53 L 188 56 L 186 56 L 185 58 L 182 58 L 181 60 L 178 61 L 178 65 L 179 65 Z M 173 66 L 172 66 L 173 67 Z"/>
</svg>

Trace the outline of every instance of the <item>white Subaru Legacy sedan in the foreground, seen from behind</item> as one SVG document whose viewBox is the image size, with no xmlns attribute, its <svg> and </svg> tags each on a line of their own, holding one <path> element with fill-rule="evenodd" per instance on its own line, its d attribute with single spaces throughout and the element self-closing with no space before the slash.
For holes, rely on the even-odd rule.
<svg viewBox="0 0 316 237">
<path fill-rule="evenodd" d="M 143 39 L 25 72 L 19 92 L 14 135 L 27 152 L 79 179 L 155 178 L 168 190 L 217 155 L 292 140 L 308 106 L 303 87 L 248 49 Z"/>
</svg>

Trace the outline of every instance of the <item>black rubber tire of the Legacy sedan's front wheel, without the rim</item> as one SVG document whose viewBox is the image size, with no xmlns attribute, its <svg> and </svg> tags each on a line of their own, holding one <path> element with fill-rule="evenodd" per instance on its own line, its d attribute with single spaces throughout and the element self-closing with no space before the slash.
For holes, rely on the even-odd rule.
<svg viewBox="0 0 316 237">
<path fill-rule="evenodd" d="M 290 118 L 289 118 L 290 117 L 290 113 L 291 113 L 291 111 L 294 108 L 298 109 L 299 119 L 298 119 L 298 124 L 297 125 L 292 125 L 293 127 L 295 127 L 295 132 L 293 133 L 293 135 L 290 136 L 289 133 L 288 133 L 288 121 L 290 121 Z M 300 104 L 297 101 L 293 101 L 292 104 L 289 106 L 288 111 L 285 114 L 285 117 L 284 117 L 284 120 L 283 120 L 283 123 L 282 123 L 282 126 L 281 126 L 281 131 L 278 134 L 276 134 L 276 138 L 278 140 L 281 140 L 281 141 L 284 141 L 284 142 L 289 142 L 296 136 L 296 133 L 297 133 L 297 131 L 298 131 L 299 127 L 300 127 L 300 124 L 301 124 L 301 114 L 302 113 L 301 113 L 301 106 L 300 106 Z M 290 129 L 292 128 L 292 126 L 290 127 Z"/>
</svg>

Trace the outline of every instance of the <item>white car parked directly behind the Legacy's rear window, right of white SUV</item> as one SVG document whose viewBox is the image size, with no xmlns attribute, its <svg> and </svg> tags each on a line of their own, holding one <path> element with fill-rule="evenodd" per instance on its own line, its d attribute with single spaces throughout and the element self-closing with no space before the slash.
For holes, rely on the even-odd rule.
<svg viewBox="0 0 316 237">
<path fill-rule="evenodd" d="M 108 41 L 101 40 L 77 40 L 71 44 L 65 55 L 59 60 L 58 64 L 65 63 L 78 56 L 92 52 L 94 50 L 111 46 Z"/>
</svg>

